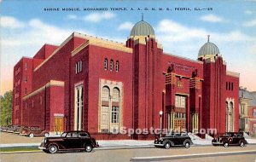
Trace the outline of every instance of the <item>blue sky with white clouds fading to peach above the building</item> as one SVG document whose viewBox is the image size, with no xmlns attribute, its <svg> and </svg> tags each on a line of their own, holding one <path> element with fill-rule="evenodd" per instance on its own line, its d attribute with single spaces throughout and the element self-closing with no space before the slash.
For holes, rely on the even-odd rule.
<svg viewBox="0 0 256 162">
<path fill-rule="evenodd" d="M 240 86 L 256 91 L 256 0 L 0 0 L 0 95 L 12 90 L 15 64 L 44 43 L 60 45 L 73 32 L 125 43 L 142 13 L 165 53 L 196 60 L 210 35 Z"/>
</svg>

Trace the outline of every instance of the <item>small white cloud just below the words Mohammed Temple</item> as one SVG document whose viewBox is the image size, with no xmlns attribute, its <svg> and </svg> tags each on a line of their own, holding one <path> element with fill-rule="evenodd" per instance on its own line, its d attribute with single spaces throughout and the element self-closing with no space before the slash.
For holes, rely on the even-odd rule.
<svg viewBox="0 0 256 162">
<path fill-rule="evenodd" d="M 110 20 L 115 17 L 115 14 L 111 12 L 93 13 L 84 16 L 83 20 L 90 22 L 100 22 L 101 20 Z"/>
</svg>

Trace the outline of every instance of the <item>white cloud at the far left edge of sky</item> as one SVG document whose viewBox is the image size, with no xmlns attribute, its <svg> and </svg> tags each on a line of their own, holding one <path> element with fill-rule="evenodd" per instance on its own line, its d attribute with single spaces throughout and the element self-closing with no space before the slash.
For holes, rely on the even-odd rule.
<svg viewBox="0 0 256 162">
<path fill-rule="evenodd" d="M 25 26 L 24 23 L 20 22 L 19 20 L 16 20 L 14 17 L 11 16 L 1 16 L 0 22 L 2 27 L 22 28 Z"/>
</svg>

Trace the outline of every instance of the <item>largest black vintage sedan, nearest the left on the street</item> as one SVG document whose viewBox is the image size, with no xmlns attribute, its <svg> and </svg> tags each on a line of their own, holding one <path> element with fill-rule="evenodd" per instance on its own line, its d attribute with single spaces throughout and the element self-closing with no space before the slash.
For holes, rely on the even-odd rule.
<svg viewBox="0 0 256 162">
<path fill-rule="evenodd" d="M 99 145 L 96 140 L 90 137 L 87 131 L 68 131 L 58 137 L 45 137 L 39 149 L 45 153 L 56 153 L 57 151 L 84 150 L 91 152 L 93 148 Z"/>
</svg>

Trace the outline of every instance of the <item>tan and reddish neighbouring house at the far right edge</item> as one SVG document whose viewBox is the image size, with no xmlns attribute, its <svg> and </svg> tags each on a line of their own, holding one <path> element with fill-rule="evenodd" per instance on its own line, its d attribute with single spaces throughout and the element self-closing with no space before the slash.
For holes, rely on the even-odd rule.
<svg viewBox="0 0 256 162">
<path fill-rule="evenodd" d="M 256 92 L 239 89 L 239 130 L 256 135 Z"/>
</svg>

